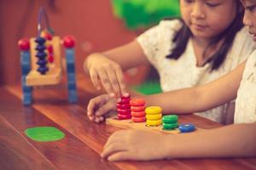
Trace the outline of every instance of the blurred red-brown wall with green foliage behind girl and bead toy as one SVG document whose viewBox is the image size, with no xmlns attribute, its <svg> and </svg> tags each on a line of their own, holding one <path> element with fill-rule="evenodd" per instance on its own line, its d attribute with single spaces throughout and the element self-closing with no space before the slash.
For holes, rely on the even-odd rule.
<svg viewBox="0 0 256 170">
<path fill-rule="evenodd" d="M 179 16 L 178 0 L 1 0 L 0 85 L 20 83 L 17 42 L 37 35 L 40 7 L 46 10 L 55 35 L 75 37 L 77 75 L 84 74 L 88 54 L 131 42 L 161 19 Z M 126 81 L 138 85 L 138 90 L 157 78 L 149 65 L 125 72 Z M 151 84 L 160 90 L 158 83 Z"/>
</svg>

